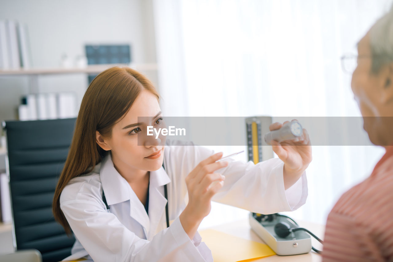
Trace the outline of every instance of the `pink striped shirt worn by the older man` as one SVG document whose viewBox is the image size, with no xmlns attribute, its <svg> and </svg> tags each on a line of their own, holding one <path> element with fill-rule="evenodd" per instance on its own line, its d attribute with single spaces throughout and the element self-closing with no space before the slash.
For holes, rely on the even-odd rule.
<svg viewBox="0 0 393 262">
<path fill-rule="evenodd" d="M 393 146 L 327 218 L 323 262 L 393 261 Z"/>
</svg>

